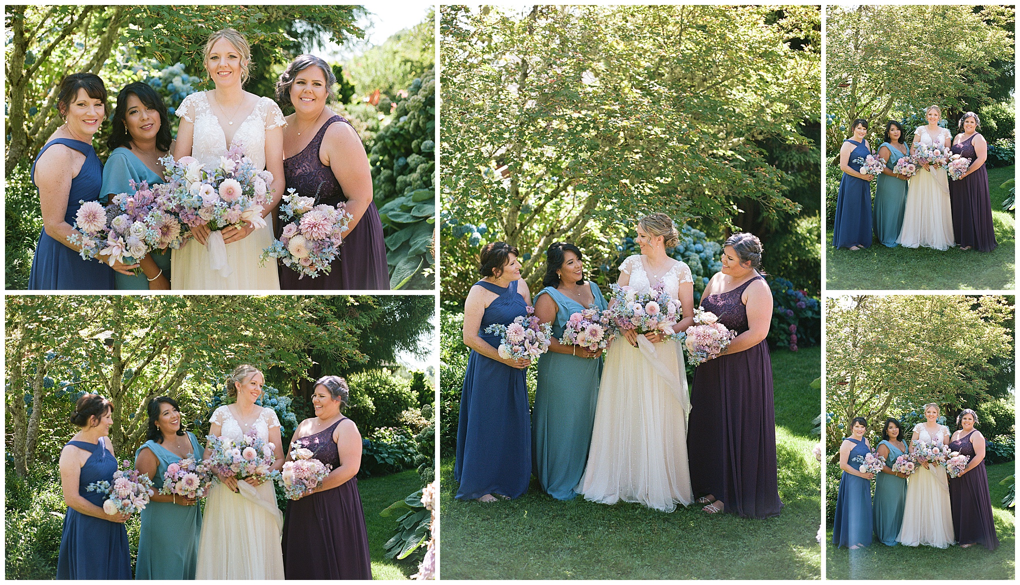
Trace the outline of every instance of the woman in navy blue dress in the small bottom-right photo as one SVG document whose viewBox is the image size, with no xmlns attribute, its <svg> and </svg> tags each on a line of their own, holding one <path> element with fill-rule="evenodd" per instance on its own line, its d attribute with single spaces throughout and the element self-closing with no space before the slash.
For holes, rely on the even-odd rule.
<svg viewBox="0 0 1020 585">
<path fill-rule="evenodd" d="M 873 473 L 858 471 L 860 463 L 856 458 L 864 458 L 871 453 L 868 439 L 864 432 L 868 421 L 857 417 L 851 421 L 851 436 L 843 439 L 839 445 L 839 467 L 843 477 L 839 478 L 839 494 L 835 500 L 835 524 L 832 526 L 832 543 L 847 548 L 860 548 L 871 545 L 873 519 L 871 512 L 871 480 Z"/>
</svg>

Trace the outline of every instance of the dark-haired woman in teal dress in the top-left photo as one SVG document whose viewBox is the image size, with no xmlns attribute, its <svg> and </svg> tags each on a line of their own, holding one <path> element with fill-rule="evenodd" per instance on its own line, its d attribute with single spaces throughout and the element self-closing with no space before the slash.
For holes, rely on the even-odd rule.
<svg viewBox="0 0 1020 585">
<path fill-rule="evenodd" d="M 110 156 L 103 166 L 100 199 L 134 193 L 131 181 L 156 184 L 163 180 L 159 159 L 168 155 L 173 145 L 170 119 L 163 100 L 148 84 L 135 82 L 117 94 L 113 129 L 107 141 Z M 117 290 L 169 290 L 170 255 L 153 252 L 140 262 L 142 274 L 116 274 Z"/>
</svg>

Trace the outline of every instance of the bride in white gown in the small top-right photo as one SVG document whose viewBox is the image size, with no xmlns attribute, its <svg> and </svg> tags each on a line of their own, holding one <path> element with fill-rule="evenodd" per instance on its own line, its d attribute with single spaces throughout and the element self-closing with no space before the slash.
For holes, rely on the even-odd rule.
<svg viewBox="0 0 1020 585">
<path fill-rule="evenodd" d="M 914 146 L 911 154 L 917 152 L 918 145 L 950 150 L 953 135 L 939 127 L 942 110 L 929 106 L 924 110 L 927 125 L 918 126 L 914 131 Z M 911 177 L 907 188 L 907 207 L 903 213 L 903 227 L 897 244 L 907 248 L 934 248 L 947 250 L 956 246 L 953 237 L 953 207 L 950 203 L 950 183 L 945 168 L 929 168 L 924 165 Z"/>
</svg>

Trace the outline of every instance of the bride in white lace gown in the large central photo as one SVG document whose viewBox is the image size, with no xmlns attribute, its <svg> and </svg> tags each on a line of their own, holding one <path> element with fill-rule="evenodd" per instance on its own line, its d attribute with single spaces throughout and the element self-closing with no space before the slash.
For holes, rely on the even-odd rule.
<svg viewBox="0 0 1020 585">
<path fill-rule="evenodd" d="M 683 262 L 666 255 L 676 246 L 673 220 L 664 213 L 638 223 L 642 254 L 620 265 L 618 283 L 639 292 L 663 286 L 682 305 L 674 331 L 694 324 L 694 282 Z M 584 475 L 574 491 L 603 503 L 636 501 L 672 512 L 691 503 L 687 470 L 687 379 L 680 344 L 661 333 L 623 331 L 606 352 L 595 428 Z"/>
</svg>

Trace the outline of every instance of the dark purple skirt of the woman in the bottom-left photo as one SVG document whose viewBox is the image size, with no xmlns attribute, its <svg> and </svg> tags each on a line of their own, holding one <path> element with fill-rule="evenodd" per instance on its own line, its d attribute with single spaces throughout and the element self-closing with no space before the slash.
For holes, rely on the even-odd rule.
<svg viewBox="0 0 1020 585">
<path fill-rule="evenodd" d="M 358 478 L 288 500 L 283 548 L 286 579 L 371 579 Z"/>
</svg>

